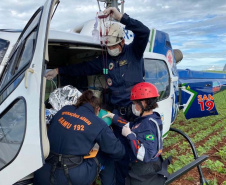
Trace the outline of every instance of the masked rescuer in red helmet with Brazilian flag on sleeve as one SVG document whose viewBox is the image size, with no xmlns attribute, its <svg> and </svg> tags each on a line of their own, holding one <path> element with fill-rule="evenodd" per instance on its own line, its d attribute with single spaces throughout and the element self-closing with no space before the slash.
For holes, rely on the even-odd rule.
<svg viewBox="0 0 226 185">
<path fill-rule="evenodd" d="M 160 154 L 162 153 L 162 121 L 153 112 L 159 96 L 157 88 L 147 82 L 135 85 L 131 91 L 132 111 L 139 116 L 134 122 L 127 122 L 118 115 L 108 113 L 103 117 L 113 119 L 113 124 L 122 127 L 122 135 L 130 145 L 130 170 L 126 185 L 163 185 L 168 176 Z M 166 165 L 167 166 L 167 165 Z"/>
</svg>

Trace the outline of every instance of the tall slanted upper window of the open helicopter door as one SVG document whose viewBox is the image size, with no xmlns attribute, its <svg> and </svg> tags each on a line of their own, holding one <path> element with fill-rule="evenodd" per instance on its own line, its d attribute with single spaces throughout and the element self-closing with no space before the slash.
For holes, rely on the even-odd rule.
<svg viewBox="0 0 226 185">
<path fill-rule="evenodd" d="M 22 33 L 19 42 L 13 49 L 0 83 L 0 102 L 21 82 L 25 70 L 32 61 L 41 12 L 41 10 L 38 10 L 34 14 L 33 20 L 26 26 L 26 30 Z"/>
</svg>

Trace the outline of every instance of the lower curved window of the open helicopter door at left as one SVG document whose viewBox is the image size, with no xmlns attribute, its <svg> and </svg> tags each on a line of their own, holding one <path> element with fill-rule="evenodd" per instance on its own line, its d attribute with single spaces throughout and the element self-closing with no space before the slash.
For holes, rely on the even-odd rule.
<svg viewBox="0 0 226 185">
<path fill-rule="evenodd" d="M 26 106 L 16 100 L 0 115 L 0 171 L 18 154 L 26 129 Z"/>
</svg>

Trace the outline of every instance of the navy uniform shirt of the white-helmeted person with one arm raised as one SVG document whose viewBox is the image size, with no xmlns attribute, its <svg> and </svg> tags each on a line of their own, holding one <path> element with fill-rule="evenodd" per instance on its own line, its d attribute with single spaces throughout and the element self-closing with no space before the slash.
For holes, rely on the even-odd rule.
<svg viewBox="0 0 226 185">
<path fill-rule="evenodd" d="M 132 87 L 144 81 L 143 53 L 148 43 L 150 30 L 127 14 L 123 15 L 121 23 L 135 36 L 132 43 L 124 45 L 119 56 L 112 57 L 108 54 L 106 64 L 103 64 L 103 57 L 100 56 L 90 62 L 60 67 L 59 73 L 61 75 L 86 76 L 103 73 L 103 68 L 108 68 L 106 83 L 112 92 L 111 103 L 127 106 L 131 102 L 130 91 Z"/>
</svg>

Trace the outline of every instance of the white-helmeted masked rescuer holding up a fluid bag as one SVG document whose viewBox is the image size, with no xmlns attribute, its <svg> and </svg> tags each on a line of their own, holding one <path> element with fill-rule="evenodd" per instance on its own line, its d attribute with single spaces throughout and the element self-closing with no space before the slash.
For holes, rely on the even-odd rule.
<svg viewBox="0 0 226 185">
<path fill-rule="evenodd" d="M 108 8 L 104 11 L 125 25 L 125 29 L 134 33 L 133 42 L 125 44 L 124 31 L 120 24 L 112 23 L 107 37 L 107 61 L 103 62 L 100 56 L 90 62 L 60 67 L 49 71 L 47 79 L 53 79 L 57 74 L 71 76 L 86 76 L 103 73 L 103 69 L 108 69 L 106 83 L 110 90 L 110 103 L 115 114 L 121 115 L 128 121 L 135 116 L 132 114 L 130 101 L 130 91 L 132 87 L 144 81 L 144 60 L 143 53 L 148 43 L 150 30 L 140 21 L 130 18 L 127 14 L 121 14 L 116 8 Z M 106 62 L 106 64 L 105 64 Z M 106 70 L 105 70 L 106 71 Z M 113 126 L 113 131 L 127 151 L 126 139 L 121 135 L 121 128 Z M 124 185 L 125 177 L 128 173 L 129 161 L 123 158 L 116 162 L 116 184 Z"/>
</svg>

